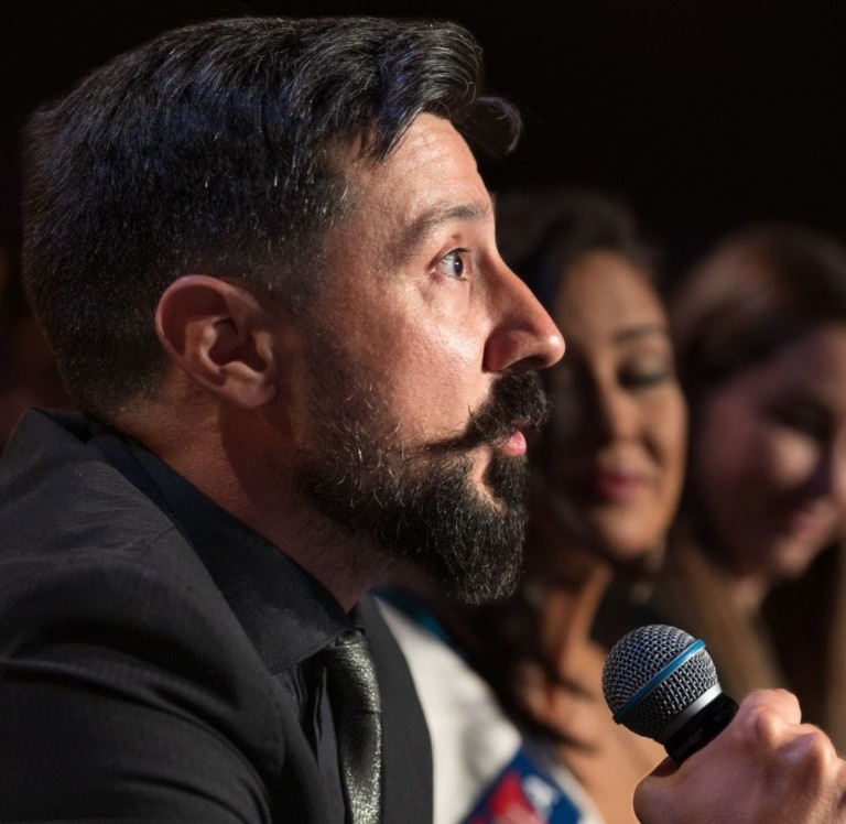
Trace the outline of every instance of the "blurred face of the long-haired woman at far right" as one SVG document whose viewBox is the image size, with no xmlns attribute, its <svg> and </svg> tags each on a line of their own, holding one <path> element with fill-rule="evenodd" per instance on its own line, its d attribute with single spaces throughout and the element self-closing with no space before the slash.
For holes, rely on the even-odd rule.
<svg viewBox="0 0 846 824">
<path fill-rule="evenodd" d="M 846 325 L 742 369 L 697 403 L 692 479 L 740 575 L 802 573 L 846 522 Z"/>
</svg>

